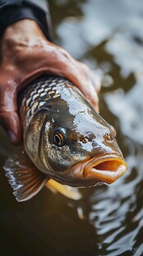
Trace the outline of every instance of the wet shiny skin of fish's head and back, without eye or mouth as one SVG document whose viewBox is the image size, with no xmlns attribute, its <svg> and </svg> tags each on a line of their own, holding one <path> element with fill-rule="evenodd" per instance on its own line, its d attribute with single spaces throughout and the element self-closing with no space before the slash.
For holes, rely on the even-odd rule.
<svg viewBox="0 0 143 256">
<path fill-rule="evenodd" d="M 21 103 L 21 121 L 26 152 L 35 165 L 39 155 L 40 161 L 46 160 L 44 173 L 49 173 L 48 168 L 56 172 L 65 171 L 79 161 L 107 152 L 122 155 L 114 138 L 113 126 L 95 112 L 67 79 L 50 77 L 27 88 Z M 67 133 L 67 142 L 63 147 L 53 144 L 53 130 L 58 127 Z M 41 130 L 44 130 L 43 135 Z M 47 154 L 41 155 L 41 149 Z"/>
</svg>

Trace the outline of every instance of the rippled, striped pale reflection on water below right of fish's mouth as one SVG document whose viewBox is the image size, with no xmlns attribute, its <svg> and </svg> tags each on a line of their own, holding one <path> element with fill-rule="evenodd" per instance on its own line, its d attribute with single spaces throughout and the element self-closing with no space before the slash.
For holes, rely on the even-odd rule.
<svg viewBox="0 0 143 256">
<path fill-rule="evenodd" d="M 143 209 L 141 202 L 141 183 L 143 172 L 143 150 L 138 149 L 135 155 L 128 155 L 129 170 L 124 180 L 108 187 L 95 190 L 91 197 L 92 210 L 90 220 L 102 240 L 99 242 L 101 252 L 108 255 L 121 255 L 127 252 L 139 254 Z M 137 158 L 137 160 L 136 160 Z"/>
</svg>

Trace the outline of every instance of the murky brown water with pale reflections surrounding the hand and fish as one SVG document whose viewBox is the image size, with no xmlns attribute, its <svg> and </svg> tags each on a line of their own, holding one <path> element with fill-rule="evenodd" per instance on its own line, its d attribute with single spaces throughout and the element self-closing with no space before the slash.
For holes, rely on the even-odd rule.
<svg viewBox="0 0 143 256">
<path fill-rule="evenodd" d="M 104 70 L 100 113 L 118 130 L 128 172 L 71 201 L 44 188 L 18 203 L 0 172 L 0 255 L 143 255 L 143 4 L 141 0 L 50 1 L 55 40 Z M 13 151 L 2 130 L 0 168 Z"/>
</svg>

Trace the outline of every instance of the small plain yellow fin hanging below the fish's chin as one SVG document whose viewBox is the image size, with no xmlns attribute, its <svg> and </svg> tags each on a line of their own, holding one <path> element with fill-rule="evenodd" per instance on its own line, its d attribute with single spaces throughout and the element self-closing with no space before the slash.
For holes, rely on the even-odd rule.
<svg viewBox="0 0 143 256">
<path fill-rule="evenodd" d="M 52 178 L 48 180 L 46 187 L 48 187 L 52 192 L 60 192 L 62 195 L 70 199 L 73 199 L 73 200 L 81 199 L 81 193 L 78 191 L 76 187 L 69 187 L 67 185 L 62 185 L 54 181 Z"/>
</svg>

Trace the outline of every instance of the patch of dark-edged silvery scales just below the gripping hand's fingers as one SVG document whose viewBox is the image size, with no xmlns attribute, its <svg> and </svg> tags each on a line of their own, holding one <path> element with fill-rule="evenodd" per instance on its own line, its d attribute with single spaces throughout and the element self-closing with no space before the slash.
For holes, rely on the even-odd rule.
<svg viewBox="0 0 143 256">
<path fill-rule="evenodd" d="M 66 82 L 65 78 L 47 76 L 42 80 L 41 78 L 35 79 L 33 83 L 30 83 L 30 87 L 25 88 L 19 97 L 21 123 L 24 128 L 28 126 L 37 111 L 48 105 L 49 99 L 61 96 L 59 91 L 65 87 Z"/>
</svg>

